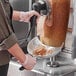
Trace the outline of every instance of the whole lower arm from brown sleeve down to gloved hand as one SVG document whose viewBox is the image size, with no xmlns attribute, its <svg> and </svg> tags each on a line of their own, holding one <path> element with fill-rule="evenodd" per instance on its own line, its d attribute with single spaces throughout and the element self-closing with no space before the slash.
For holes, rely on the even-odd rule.
<svg viewBox="0 0 76 76">
<path fill-rule="evenodd" d="M 0 51 L 8 50 L 10 54 L 20 61 L 24 68 L 31 70 L 36 64 L 36 60 L 32 56 L 24 54 L 18 45 L 17 38 L 10 28 L 1 2 L 0 21 Z"/>
</svg>

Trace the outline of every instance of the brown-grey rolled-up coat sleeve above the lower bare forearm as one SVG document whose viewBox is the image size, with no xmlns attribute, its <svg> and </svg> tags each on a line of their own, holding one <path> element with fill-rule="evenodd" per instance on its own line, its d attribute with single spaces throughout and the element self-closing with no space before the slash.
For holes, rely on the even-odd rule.
<svg viewBox="0 0 76 76">
<path fill-rule="evenodd" d="M 8 23 L 5 10 L 0 2 L 0 50 L 9 49 L 17 43 L 17 38 Z"/>
</svg>

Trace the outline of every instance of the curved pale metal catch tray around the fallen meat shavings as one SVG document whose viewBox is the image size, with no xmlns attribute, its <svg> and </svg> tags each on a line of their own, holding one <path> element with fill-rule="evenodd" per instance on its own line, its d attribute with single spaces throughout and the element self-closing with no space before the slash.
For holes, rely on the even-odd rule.
<svg viewBox="0 0 76 76">
<path fill-rule="evenodd" d="M 34 55 L 33 51 L 38 48 L 39 46 L 44 46 L 46 48 L 46 50 L 53 50 L 52 53 L 43 55 L 43 56 L 39 56 L 39 55 Z M 29 54 L 31 54 L 32 56 L 35 56 L 36 58 L 50 58 L 53 57 L 55 55 L 57 55 L 61 49 L 62 49 L 63 44 L 60 47 L 52 47 L 52 46 L 47 46 L 44 45 L 40 40 L 39 37 L 34 37 L 31 41 L 29 41 L 28 45 L 27 45 L 27 51 Z"/>
</svg>

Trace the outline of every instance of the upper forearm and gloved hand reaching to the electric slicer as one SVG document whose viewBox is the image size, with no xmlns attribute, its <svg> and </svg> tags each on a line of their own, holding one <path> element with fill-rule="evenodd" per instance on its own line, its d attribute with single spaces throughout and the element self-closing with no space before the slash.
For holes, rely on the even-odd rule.
<svg viewBox="0 0 76 76">
<path fill-rule="evenodd" d="M 14 10 L 12 19 L 21 22 L 29 22 L 30 18 L 34 15 L 37 16 L 37 19 L 40 17 L 40 14 L 34 10 L 27 12 Z"/>
</svg>

